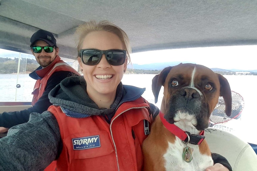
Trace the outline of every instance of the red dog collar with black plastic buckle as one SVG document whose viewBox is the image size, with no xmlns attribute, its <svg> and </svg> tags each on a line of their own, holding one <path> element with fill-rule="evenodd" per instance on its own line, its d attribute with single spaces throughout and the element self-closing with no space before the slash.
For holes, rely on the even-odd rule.
<svg viewBox="0 0 257 171">
<path fill-rule="evenodd" d="M 164 114 L 162 112 L 160 112 L 159 115 L 160 115 L 161 121 L 162 121 L 163 125 L 165 126 L 165 128 L 167 128 L 172 134 L 179 137 L 179 139 L 181 139 L 182 141 L 188 142 L 188 137 L 189 137 L 190 144 L 194 144 L 194 145 L 198 144 L 199 145 L 205 138 L 204 131 L 200 132 L 200 135 L 190 134 L 190 132 L 183 131 L 182 129 L 177 127 L 175 124 L 168 123 L 167 120 L 164 118 Z"/>
</svg>

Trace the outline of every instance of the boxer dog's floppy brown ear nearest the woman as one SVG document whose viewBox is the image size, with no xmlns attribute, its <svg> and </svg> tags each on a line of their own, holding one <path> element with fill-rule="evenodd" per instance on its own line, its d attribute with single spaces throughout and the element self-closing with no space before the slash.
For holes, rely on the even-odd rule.
<svg viewBox="0 0 257 171">
<path fill-rule="evenodd" d="M 152 79 L 152 91 L 154 93 L 154 101 L 157 103 L 158 101 L 158 95 L 161 90 L 161 87 L 165 83 L 165 79 L 170 72 L 172 67 L 167 67 L 162 70 L 162 72 L 159 75 L 154 76 Z"/>
</svg>

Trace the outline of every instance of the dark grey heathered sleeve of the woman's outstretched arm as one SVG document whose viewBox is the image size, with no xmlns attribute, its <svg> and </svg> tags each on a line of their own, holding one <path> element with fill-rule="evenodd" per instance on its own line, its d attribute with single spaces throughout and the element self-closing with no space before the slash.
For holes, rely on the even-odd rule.
<svg viewBox="0 0 257 171">
<path fill-rule="evenodd" d="M 44 170 L 58 157 L 62 141 L 58 122 L 49 111 L 30 114 L 27 123 L 0 139 L 0 170 Z"/>
</svg>

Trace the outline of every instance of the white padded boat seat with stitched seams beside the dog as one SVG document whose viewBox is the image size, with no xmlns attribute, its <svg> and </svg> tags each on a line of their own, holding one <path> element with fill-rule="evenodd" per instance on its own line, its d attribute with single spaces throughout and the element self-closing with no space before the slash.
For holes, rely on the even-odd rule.
<svg viewBox="0 0 257 171">
<path fill-rule="evenodd" d="M 257 155 L 247 142 L 219 128 L 209 127 L 205 136 L 210 151 L 224 156 L 233 171 L 257 171 Z"/>
</svg>

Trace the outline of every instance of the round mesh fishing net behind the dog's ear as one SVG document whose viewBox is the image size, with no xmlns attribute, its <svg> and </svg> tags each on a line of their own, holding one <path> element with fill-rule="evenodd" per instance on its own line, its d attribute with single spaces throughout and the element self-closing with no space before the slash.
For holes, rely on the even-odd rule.
<svg viewBox="0 0 257 171">
<path fill-rule="evenodd" d="M 232 94 L 232 114 L 227 116 L 225 113 L 225 101 L 223 97 L 219 97 L 219 101 L 210 115 L 210 121 L 213 124 L 224 123 L 231 119 L 239 119 L 241 117 L 241 112 L 244 109 L 244 99 L 243 97 L 231 91 Z"/>
</svg>

